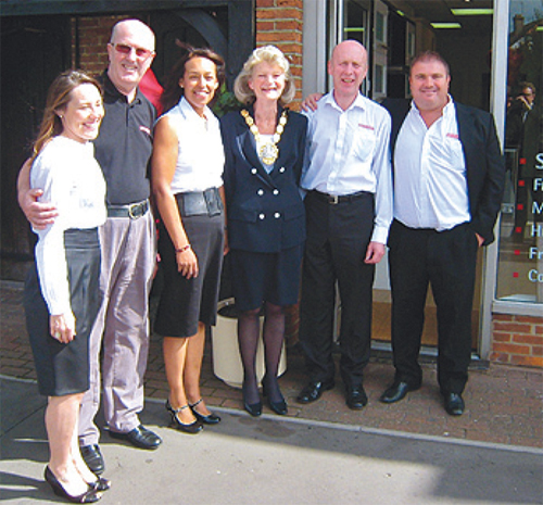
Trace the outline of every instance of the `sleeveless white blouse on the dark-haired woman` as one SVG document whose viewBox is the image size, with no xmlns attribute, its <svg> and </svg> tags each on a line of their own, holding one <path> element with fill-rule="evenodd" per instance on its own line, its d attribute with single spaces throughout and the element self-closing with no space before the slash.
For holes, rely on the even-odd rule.
<svg viewBox="0 0 543 505">
<path fill-rule="evenodd" d="M 223 186 L 225 151 L 218 119 L 205 108 L 201 117 L 185 99 L 164 116 L 177 134 L 177 165 L 172 192 L 204 191 Z M 159 119 L 160 121 L 160 119 Z"/>
</svg>

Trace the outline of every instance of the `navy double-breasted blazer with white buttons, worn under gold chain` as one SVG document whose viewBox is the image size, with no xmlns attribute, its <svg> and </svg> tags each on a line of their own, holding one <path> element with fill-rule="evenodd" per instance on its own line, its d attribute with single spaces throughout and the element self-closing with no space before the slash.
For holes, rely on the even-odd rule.
<svg viewBox="0 0 543 505">
<path fill-rule="evenodd" d="M 254 117 L 252 108 L 247 108 Z M 279 108 L 278 117 L 282 113 Z M 268 174 L 253 134 L 239 112 L 220 118 L 225 147 L 225 194 L 228 244 L 252 252 L 279 252 L 305 240 L 305 210 L 299 191 L 307 118 L 288 112 L 277 147 L 279 157 Z"/>
</svg>

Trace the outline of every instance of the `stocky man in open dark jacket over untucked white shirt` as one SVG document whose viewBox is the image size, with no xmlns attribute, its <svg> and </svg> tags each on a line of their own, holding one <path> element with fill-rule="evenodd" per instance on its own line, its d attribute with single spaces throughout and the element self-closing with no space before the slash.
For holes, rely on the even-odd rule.
<svg viewBox="0 0 543 505">
<path fill-rule="evenodd" d="M 449 94 L 449 65 L 424 52 L 411 67 L 413 101 L 392 115 L 394 220 L 389 236 L 395 377 L 381 395 L 420 387 L 418 364 L 428 285 L 438 307 L 438 381 L 450 415 L 464 413 L 471 355 L 477 251 L 494 240 L 505 164 L 492 116 Z"/>
</svg>

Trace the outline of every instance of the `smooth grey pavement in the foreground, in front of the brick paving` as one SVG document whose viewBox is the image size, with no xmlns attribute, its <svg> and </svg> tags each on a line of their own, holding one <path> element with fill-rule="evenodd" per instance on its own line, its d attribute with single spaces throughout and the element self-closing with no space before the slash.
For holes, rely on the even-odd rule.
<svg viewBox="0 0 543 505">
<path fill-rule="evenodd" d="M 59 503 L 42 479 L 45 401 L 0 378 L 0 502 Z M 217 407 L 197 435 L 168 427 L 163 402 L 141 415 L 164 443 L 141 451 L 102 435 L 106 504 L 541 504 L 543 451 Z"/>
</svg>

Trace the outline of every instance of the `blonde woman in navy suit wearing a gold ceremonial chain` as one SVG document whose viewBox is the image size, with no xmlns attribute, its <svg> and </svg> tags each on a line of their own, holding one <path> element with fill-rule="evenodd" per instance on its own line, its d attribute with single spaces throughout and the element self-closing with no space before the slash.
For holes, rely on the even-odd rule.
<svg viewBox="0 0 543 505">
<path fill-rule="evenodd" d="M 287 59 L 274 46 L 253 51 L 236 79 L 235 92 L 245 108 L 225 115 L 220 128 L 243 404 L 251 415 L 261 415 L 255 356 L 264 306 L 263 392 L 270 408 L 283 415 L 287 403 L 277 371 L 285 333 L 283 307 L 298 301 L 305 241 L 298 185 L 307 121 L 283 109 L 295 88 Z"/>
</svg>

